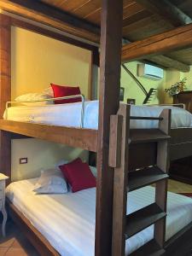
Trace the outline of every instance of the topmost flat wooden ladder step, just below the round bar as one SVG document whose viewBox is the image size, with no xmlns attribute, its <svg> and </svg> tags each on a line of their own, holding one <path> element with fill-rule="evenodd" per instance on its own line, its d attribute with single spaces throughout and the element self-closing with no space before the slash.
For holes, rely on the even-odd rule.
<svg viewBox="0 0 192 256">
<path fill-rule="evenodd" d="M 171 137 L 159 129 L 130 130 L 130 143 L 150 143 L 168 140 Z"/>
</svg>

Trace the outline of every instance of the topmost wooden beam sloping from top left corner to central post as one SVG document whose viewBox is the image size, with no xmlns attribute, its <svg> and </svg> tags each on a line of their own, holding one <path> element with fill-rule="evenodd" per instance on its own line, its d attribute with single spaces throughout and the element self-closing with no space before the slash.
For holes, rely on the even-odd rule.
<svg viewBox="0 0 192 256">
<path fill-rule="evenodd" d="M 90 42 L 98 43 L 100 40 L 100 28 L 98 26 L 46 3 L 34 0 L 0 0 L 0 9 L 55 27 Z"/>
</svg>

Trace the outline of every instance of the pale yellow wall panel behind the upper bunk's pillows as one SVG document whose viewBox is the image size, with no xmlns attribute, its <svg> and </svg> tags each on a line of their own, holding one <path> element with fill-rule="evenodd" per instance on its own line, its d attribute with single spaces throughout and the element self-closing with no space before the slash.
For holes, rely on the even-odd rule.
<svg viewBox="0 0 192 256">
<path fill-rule="evenodd" d="M 79 85 L 84 96 L 89 95 L 89 50 L 17 27 L 12 27 L 11 42 L 12 99 L 50 83 Z"/>
</svg>

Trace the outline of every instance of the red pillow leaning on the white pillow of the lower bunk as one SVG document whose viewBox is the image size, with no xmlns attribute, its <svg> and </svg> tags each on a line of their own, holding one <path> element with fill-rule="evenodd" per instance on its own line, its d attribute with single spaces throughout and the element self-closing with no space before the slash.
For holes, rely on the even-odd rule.
<svg viewBox="0 0 192 256">
<path fill-rule="evenodd" d="M 96 177 L 93 176 L 88 164 L 83 163 L 79 158 L 59 167 L 73 192 L 96 187 Z"/>
</svg>

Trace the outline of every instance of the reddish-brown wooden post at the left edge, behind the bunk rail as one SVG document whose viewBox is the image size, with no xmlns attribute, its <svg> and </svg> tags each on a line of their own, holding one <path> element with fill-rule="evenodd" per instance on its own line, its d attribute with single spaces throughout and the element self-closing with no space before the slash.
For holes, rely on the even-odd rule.
<svg viewBox="0 0 192 256">
<path fill-rule="evenodd" d="M 5 103 L 11 99 L 10 77 L 11 23 L 8 16 L 0 14 L 0 119 L 3 119 Z M 11 137 L 0 131 L 0 172 L 11 174 Z"/>
</svg>

